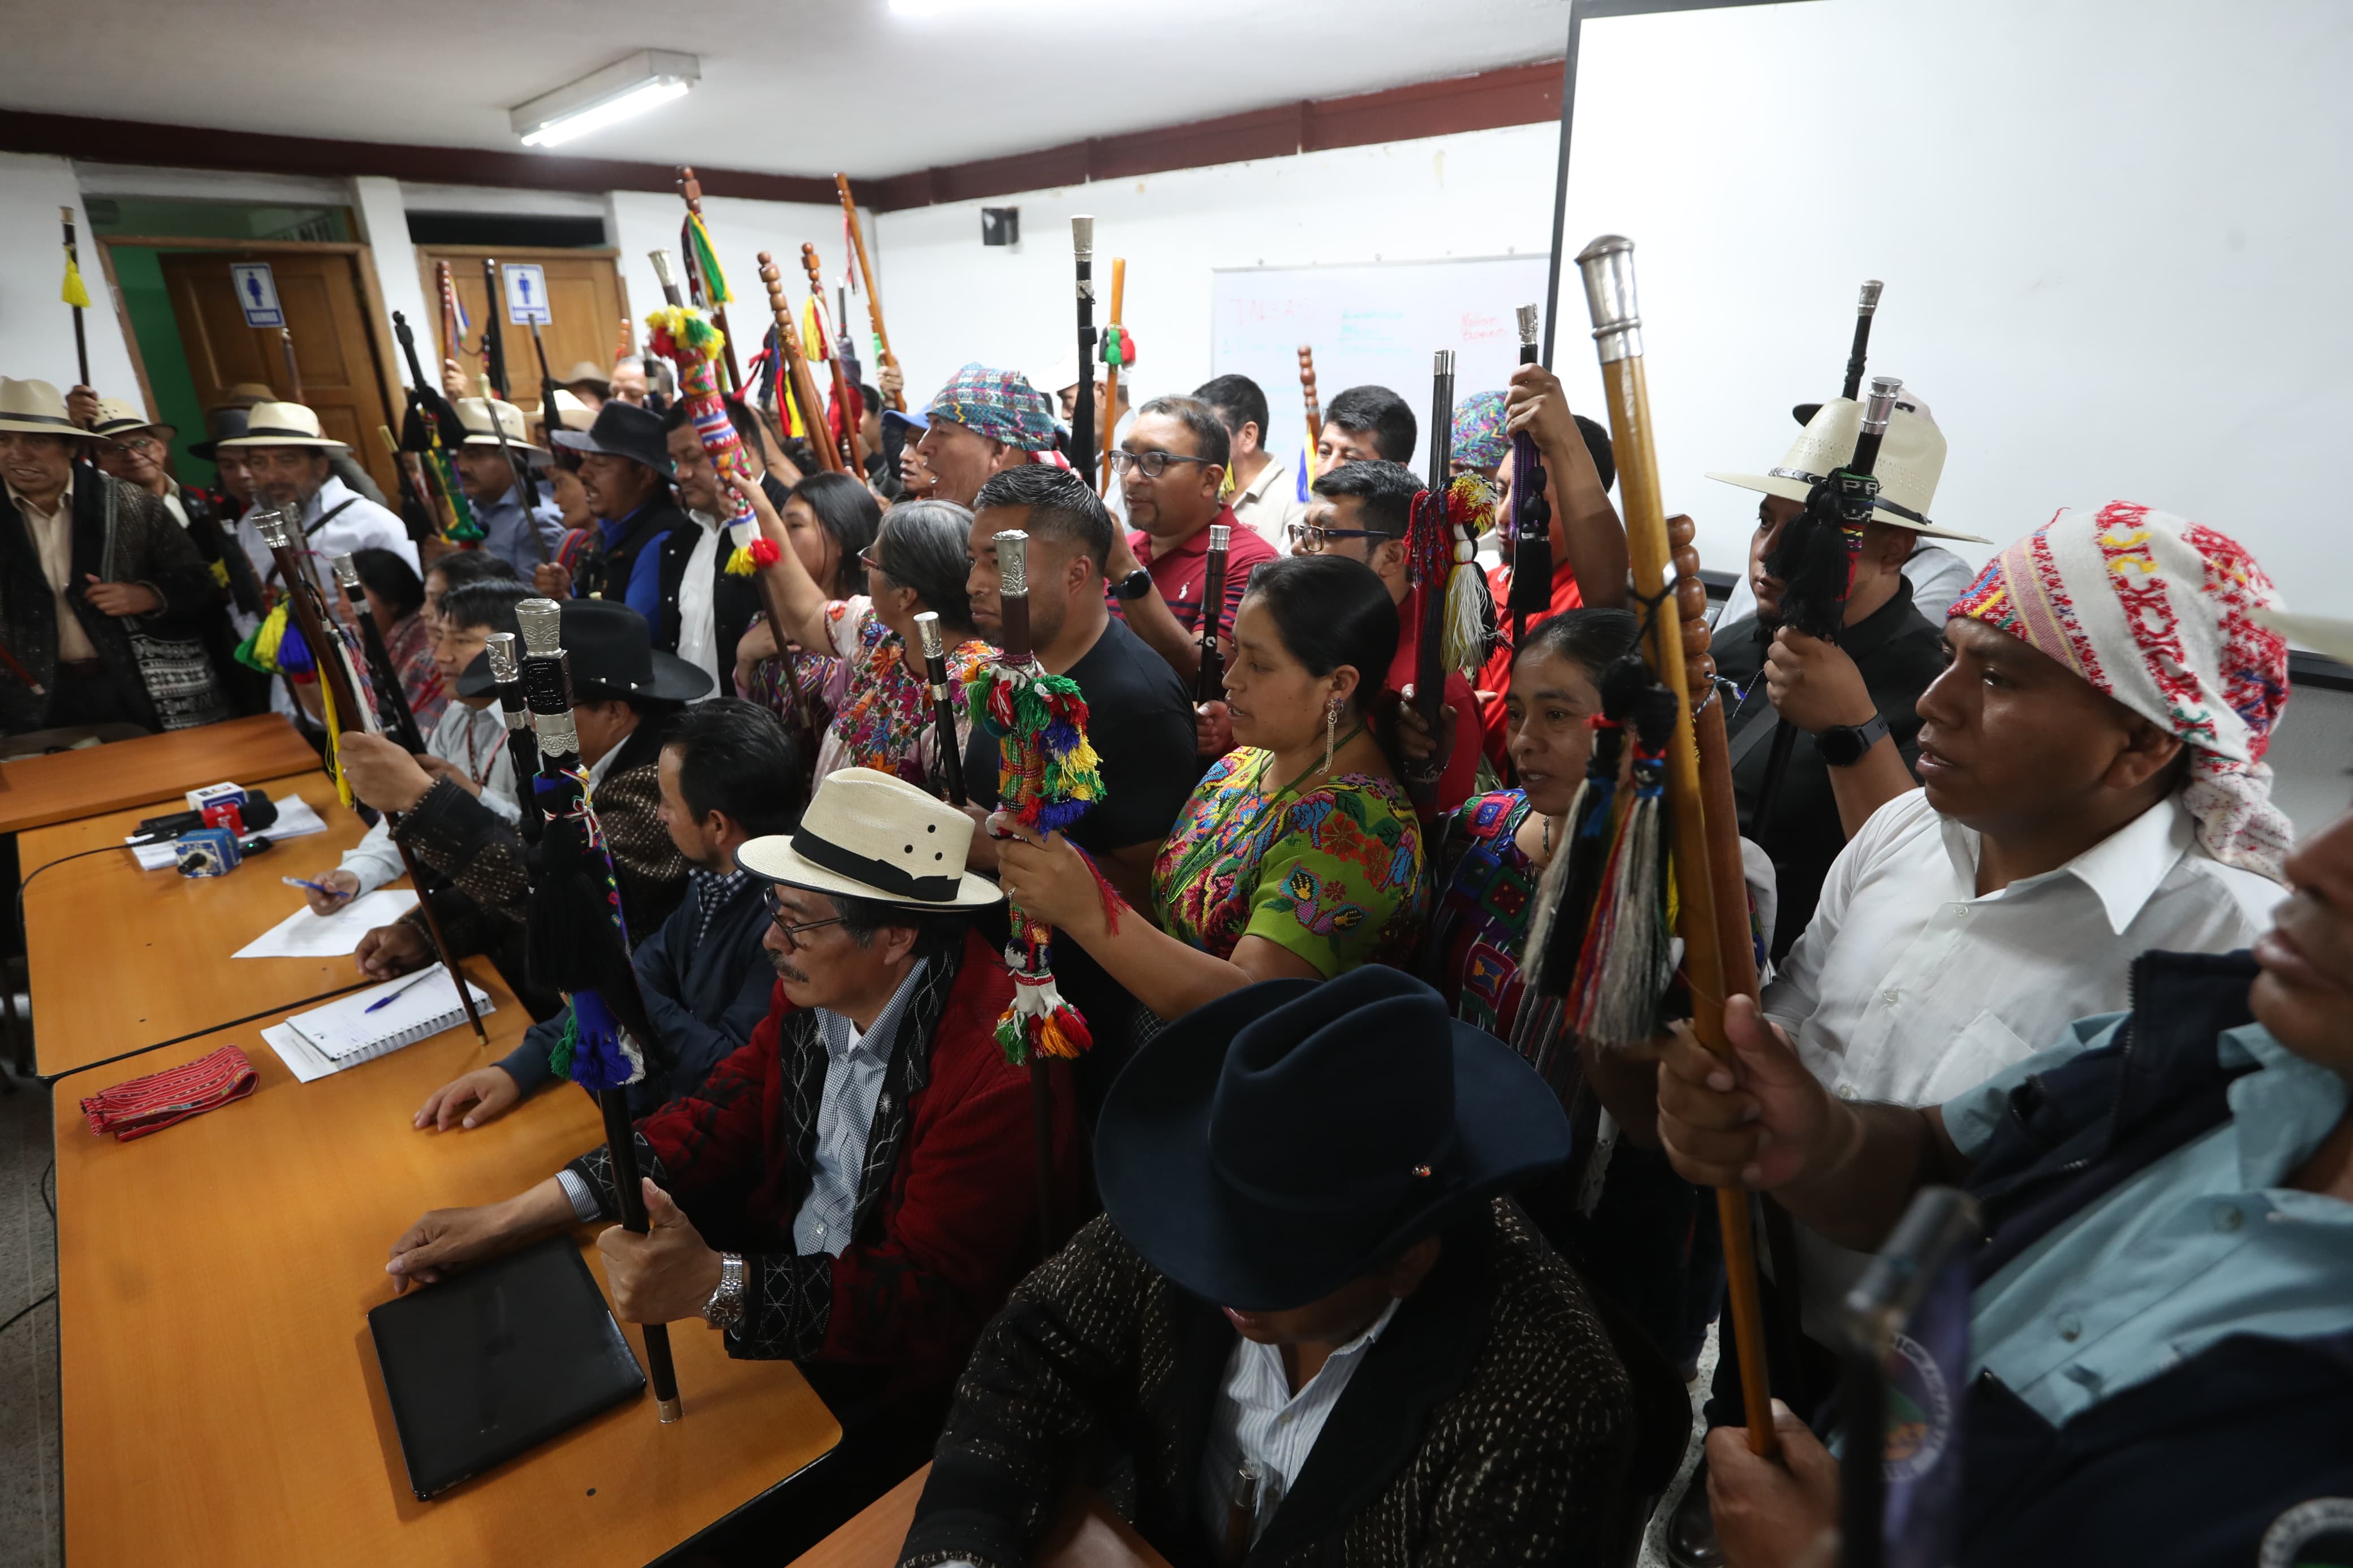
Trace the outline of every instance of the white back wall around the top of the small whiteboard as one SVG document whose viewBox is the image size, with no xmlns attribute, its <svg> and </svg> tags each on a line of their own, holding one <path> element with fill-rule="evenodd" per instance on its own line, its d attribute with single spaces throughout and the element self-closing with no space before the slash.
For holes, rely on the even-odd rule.
<svg viewBox="0 0 2353 1568">
<path fill-rule="evenodd" d="M 1094 214 L 1096 322 L 1108 320 L 1111 261 L 1127 259 L 1141 402 L 1209 378 L 1217 268 L 1548 252 L 1558 150 L 1555 127 L 1525 125 L 878 214 L 873 261 L 908 404 L 967 360 L 1040 378 L 1073 353 L 1071 214 Z M 1021 207 L 1021 244 L 984 247 L 981 207 Z M 1428 386 L 1395 390 L 1428 402 Z M 1266 397 L 1297 440 L 1297 383 Z"/>
</svg>

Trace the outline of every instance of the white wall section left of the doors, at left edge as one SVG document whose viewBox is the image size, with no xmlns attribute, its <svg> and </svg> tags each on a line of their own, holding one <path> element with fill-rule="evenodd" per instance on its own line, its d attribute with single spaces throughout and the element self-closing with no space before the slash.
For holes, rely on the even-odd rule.
<svg viewBox="0 0 2353 1568">
<path fill-rule="evenodd" d="M 89 374 L 99 388 L 136 395 L 139 376 L 122 341 L 122 317 L 106 292 L 106 266 L 89 237 L 89 214 L 64 158 L 0 153 L 0 376 L 49 381 L 66 390 L 80 378 L 73 360 L 73 310 L 59 299 L 66 282 L 66 233 L 56 209 L 73 207 L 75 249 L 89 310 Z"/>
</svg>

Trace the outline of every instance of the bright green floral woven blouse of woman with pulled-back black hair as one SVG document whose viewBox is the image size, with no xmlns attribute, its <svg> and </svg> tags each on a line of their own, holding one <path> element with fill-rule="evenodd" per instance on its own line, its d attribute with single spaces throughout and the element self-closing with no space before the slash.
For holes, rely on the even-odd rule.
<svg viewBox="0 0 2353 1568">
<path fill-rule="evenodd" d="M 1160 929 L 1221 959 L 1245 936 L 1322 978 L 1409 961 L 1421 924 L 1421 827 L 1388 778 L 1341 773 L 1306 795 L 1259 795 L 1273 755 L 1209 766 L 1153 863 Z"/>
</svg>

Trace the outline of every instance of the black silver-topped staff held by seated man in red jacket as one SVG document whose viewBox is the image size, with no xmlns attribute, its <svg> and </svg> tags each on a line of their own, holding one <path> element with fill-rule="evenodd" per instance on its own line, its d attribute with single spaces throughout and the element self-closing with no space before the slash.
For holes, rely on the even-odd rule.
<svg viewBox="0 0 2353 1568">
<path fill-rule="evenodd" d="M 645 1077 L 645 1048 L 656 1034 L 645 1018 L 638 971 L 628 959 L 612 858 L 595 820 L 588 769 L 581 764 L 572 717 L 572 665 L 562 646 L 562 607 L 555 599 L 515 604 L 522 625 L 522 689 L 539 743 L 539 792 L 546 823 L 532 877 L 527 926 L 532 978 L 565 992 L 572 1020 L 548 1067 L 588 1088 L 605 1114 L 605 1157 L 612 1161 L 621 1227 L 647 1232 L 645 1185 L 638 1171 L 638 1128 L 628 1119 L 628 1086 Z M 522 790 L 525 780 L 515 780 Z M 600 914 L 600 907 L 605 914 Z M 645 1371 L 661 1422 L 680 1418 L 671 1326 L 642 1324 Z"/>
</svg>

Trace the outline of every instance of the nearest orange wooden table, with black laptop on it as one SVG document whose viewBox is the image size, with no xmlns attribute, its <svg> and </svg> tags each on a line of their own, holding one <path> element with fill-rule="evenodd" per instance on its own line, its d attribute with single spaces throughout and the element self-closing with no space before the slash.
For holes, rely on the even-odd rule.
<svg viewBox="0 0 2353 1568">
<path fill-rule="evenodd" d="M 393 1239 L 602 1138 L 567 1086 L 471 1133 L 412 1131 L 435 1086 L 525 1030 L 489 966 L 473 976 L 496 999 L 489 1056 L 461 1027 L 296 1084 L 266 1018 L 56 1086 L 66 1561 L 626 1568 L 840 1441 L 791 1361 L 729 1361 L 720 1335 L 678 1324 L 685 1420 L 659 1425 L 645 1394 L 416 1502 L 367 1333 Z M 132 1143 L 89 1133 L 80 1095 L 224 1044 L 259 1070 L 247 1100 Z"/>
</svg>

